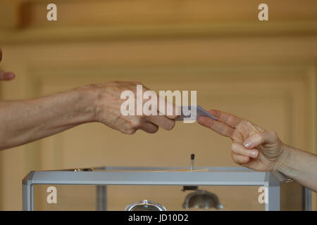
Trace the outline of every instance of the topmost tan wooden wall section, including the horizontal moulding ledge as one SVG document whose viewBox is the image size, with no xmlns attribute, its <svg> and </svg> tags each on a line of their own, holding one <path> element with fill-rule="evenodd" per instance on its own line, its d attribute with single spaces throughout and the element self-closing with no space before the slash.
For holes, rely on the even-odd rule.
<svg viewBox="0 0 317 225">
<path fill-rule="evenodd" d="M 317 34 L 317 7 L 313 0 L 266 1 L 269 23 L 258 20 L 261 1 L 253 0 L 239 4 L 235 0 L 59 0 L 55 1 L 57 22 L 46 20 L 46 5 L 50 1 L 17 0 L 9 5 L 8 2 L 0 3 L 0 10 L 4 9 L 1 15 L 9 17 L 4 25 L 10 28 L 0 30 L 3 44 Z"/>
</svg>

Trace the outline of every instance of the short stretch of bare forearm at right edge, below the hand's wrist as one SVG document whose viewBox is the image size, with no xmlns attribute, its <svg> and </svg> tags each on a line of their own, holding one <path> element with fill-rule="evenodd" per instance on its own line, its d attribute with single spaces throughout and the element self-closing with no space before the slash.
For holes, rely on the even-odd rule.
<svg viewBox="0 0 317 225">
<path fill-rule="evenodd" d="M 285 146 L 285 160 L 278 171 L 317 192 L 317 155 Z"/>
</svg>

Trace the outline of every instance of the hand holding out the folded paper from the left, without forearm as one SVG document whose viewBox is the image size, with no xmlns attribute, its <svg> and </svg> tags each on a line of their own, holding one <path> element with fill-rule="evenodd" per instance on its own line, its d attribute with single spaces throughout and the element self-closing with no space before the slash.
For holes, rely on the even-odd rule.
<svg viewBox="0 0 317 225">
<path fill-rule="evenodd" d="M 125 100 L 120 99 L 120 94 L 130 90 L 135 94 L 135 102 L 137 102 L 137 84 L 140 83 L 110 82 L 92 85 L 97 91 L 97 101 L 94 103 L 96 120 L 124 134 L 134 134 L 137 129 L 142 129 L 148 133 L 155 133 L 159 127 L 167 130 L 173 129 L 176 118 L 173 115 L 121 115 L 120 106 Z M 143 85 L 143 93 L 147 90 L 149 89 Z M 167 104 L 167 102 L 165 103 Z"/>
</svg>

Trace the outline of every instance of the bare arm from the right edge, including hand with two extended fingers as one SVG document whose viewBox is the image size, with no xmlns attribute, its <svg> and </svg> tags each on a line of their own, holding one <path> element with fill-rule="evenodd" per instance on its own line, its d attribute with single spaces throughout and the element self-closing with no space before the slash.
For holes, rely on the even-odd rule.
<svg viewBox="0 0 317 225">
<path fill-rule="evenodd" d="M 232 140 L 231 156 L 237 164 L 259 171 L 279 171 L 317 191 L 317 155 L 282 143 L 274 131 L 219 110 L 210 110 L 219 121 L 199 117 L 199 124 Z"/>
</svg>

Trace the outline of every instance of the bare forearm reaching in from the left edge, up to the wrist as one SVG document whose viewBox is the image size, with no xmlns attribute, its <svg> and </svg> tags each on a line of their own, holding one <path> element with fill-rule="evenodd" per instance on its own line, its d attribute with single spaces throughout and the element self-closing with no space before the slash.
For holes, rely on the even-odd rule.
<svg viewBox="0 0 317 225">
<path fill-rule="evenodd" d="M 89 86 L 22 101 L 0 101 L 0 150 L 94 121 Z"/>
</svg>

